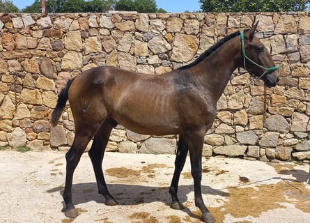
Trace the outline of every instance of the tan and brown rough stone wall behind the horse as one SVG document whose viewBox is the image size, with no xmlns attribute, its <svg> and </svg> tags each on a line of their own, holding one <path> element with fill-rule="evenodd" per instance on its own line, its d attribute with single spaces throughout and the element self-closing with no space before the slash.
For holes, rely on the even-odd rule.
<svg viewBox="0 0 310 223">
<path fill-rule="evenodd" d="M 0 146 L 68 150 L 74 137 L 70 107 L 56 128 L 49 123 L 57 93 L 68 79 L 102 65 L 160 75 L 259 20 L 256 36 L 279 65 L 279 86 L 267 89 L 265 112 L 261 82 L 254 83 L 245 70 L 236 70 L 218 102 L 203 154 L 309 160 L 309 16 L 0 14 Z M 142 136 L 118 126 L 107 150 L 175 153 L 176 144 L 176 136 Z"/>
</svg>

